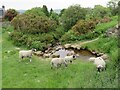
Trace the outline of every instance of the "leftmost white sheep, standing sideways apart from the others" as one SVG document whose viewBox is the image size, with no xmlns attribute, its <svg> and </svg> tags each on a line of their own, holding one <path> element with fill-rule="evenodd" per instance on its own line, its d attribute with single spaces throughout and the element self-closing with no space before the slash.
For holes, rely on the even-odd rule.
<svg viewBox="0 0 120 90">
<path fill-rule="evenodd" d="M 36 51 L 36 49 L 31 49 L 31 50 L 21 50 L 19 51 L 19 58 L 25 58 L 25 57 L 29 57 L 30 58 L 30 62 L 32 61 L 31 60 L 31 57 L 32 57 L 32 54 Z"/>
</svg>

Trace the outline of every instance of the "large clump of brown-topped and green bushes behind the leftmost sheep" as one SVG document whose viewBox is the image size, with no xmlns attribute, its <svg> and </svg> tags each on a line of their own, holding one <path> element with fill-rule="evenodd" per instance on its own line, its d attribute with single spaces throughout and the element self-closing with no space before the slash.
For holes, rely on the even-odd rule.
<svg viewBox="0 0 120 90">
<path fill-rule="evenodd" d="M 57 22 L 47 17 L 43 11 L 42 8 L 33 8 L 11 21 L 14 31 L 10 38 L 15 45 L 44 50 L 58 40 L 62 34 L 57 30 Z M 52 33 L 58 33 L 58 36 Z"/>
</svg>

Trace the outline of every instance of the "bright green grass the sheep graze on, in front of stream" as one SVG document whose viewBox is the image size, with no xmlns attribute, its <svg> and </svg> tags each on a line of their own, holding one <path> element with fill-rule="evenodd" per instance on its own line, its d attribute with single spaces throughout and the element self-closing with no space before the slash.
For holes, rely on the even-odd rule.
<svg viewBox="0 0 120 90">
<path fill-rule="evenodd" d="M 118 86 L 117 73 L 111 66 L 111 61 L 108 62 L 107 70 L 101 73 L 97 73 L 93 63 L 82 60 L 75 60 L 67 68 L 62 66 L 59 69 L 50 69 L 50 59 L 37 56 L 32 57 L 31 63 L 28 59 L 18 62 L 18 51 L 9 39 L 7 31 L 2 35 L 2 88 L 116 88 Z"/>
</svg>

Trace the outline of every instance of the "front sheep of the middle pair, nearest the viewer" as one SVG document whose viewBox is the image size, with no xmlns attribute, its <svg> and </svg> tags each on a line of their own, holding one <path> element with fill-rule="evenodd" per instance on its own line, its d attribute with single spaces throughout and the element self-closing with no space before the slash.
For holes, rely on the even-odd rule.
<svg viewBox="0 0 120 90">
<path fill-rule="evenodd" d="M 67 63 L 65 62 L 63 58 L 53 58 L 51 60 L 51 69 L 53 68 L 53 66 L 58 68 L 62 64 L 64 64 L 67 67 Z"/>
</svg>

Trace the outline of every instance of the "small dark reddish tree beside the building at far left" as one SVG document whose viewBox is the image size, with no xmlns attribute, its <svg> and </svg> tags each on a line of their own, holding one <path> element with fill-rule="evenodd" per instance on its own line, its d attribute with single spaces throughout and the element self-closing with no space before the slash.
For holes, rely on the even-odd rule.
<svg viewBox="0 0 120 90">
<path fill-rule="evenodd" d="M 8 9 L 5 12 L 4 18 L 8 21 L 11 21 L 17 15 L 18 15 L 18 12 L 15 9 Z"/>
</svg>

